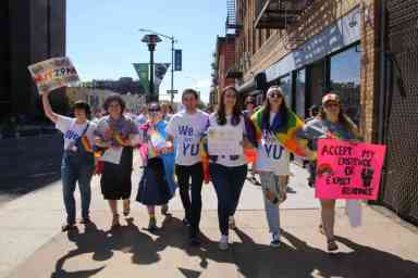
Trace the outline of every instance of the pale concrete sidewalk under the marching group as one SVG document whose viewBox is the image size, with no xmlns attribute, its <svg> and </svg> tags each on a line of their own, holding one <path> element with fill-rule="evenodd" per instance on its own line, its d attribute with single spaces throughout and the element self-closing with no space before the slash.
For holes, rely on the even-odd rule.
<svg viewBox="0 0 418 278">
<path fill-rule="evenodd" d="M 138 168 L 138 167 L 135 167 Z M 365 206 L 364 226 L 352 229 L 339 208 L 340 252 L 329 255 L 318 232 L 318 202 L 306 186 L 306 172 L 292 166 L 288 200 L 281 211 L 283 245 L 269 247 L 260 187 L 246 182 L 231 232 L 231 249 L 218 251 L 217 199 L 202 191 L 201 248 L 187 245 L 180 198 L 161 227 L 144 229 L 144 206 L 132 203 L 132 218 L 108 230 L 110 215 L 94 179 L 95 225 L 59 232 L 63 219 L 61 184 L 16 199 L 0 211 L 0 277 L 418 277 L 418 235 Z M 133 199 L 139 173 L 133 175 Z M 340 203 L 340 207 L 343 203 Z"/>
</svg>

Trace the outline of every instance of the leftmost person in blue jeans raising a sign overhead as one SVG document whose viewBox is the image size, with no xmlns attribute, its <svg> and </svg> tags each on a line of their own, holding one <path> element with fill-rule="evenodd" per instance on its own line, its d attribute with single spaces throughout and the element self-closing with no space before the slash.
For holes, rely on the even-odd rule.
<svg viewBox="0 0 418 278">
<path fill-rule="evenodd" d="M 49 102 L 49 91 L 42 92 L 44 112 L 56 123 L 64 137 L 64 153 L 61 164 L 62 191 L 66 211 L 66 223 L 62 231 L 75 228 L 75 185 L 82 198 L 82 224 L 90 223 L 89 206 L 91 200 L 90 180 L 95 169 L 93 152 L 94 131 L 96 124 L 88 121 L 90 106 L 82 101 L 75 102 L 73 112 L 75 117 L 56 114 Z"/>
</svg>

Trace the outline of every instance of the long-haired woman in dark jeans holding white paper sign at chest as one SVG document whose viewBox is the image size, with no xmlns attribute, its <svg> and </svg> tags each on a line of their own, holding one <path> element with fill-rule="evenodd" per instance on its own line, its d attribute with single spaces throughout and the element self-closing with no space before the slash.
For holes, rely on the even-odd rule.
<svg viewBox="0 0 418 278">
<path fill-rule="evenodd" d="M 248 169 L 243 147 L 250 144 L 237 97 L 234 87 L 223 89 L 217 112 L 209 116 L 209 173 L 218 195 L 221 250 L 229 248 L 229 226 L 235 227 L 234 214 Z"/>
</svg>

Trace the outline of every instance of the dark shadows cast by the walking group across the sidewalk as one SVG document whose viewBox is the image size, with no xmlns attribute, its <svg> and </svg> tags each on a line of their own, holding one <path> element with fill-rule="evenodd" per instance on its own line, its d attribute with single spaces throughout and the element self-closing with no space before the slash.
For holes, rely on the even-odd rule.
<svg viewBox="0 0 418 278">
<path fill-rule="evenodd" d="M 349 253 L 328 254 L 310 247 L 307 242 L 282 230 L 282 237 L 290 244 L 282 242 L 280 248 L 256 243 L 241 229 L 235 229 L 242 242 L 231 244 L 228 251 L 219 251 L 218 242 L 201 235 L 202 244 L 198 248 L 188 245 L 187 229 L 175 217 L 165 217 L 153 239 L 143 232 L 133 219 L 127 226 L 114 231 L 99 230 L 94 224 L 87 226 L 84 233 L 78 230 L 69 232 L 69 240 L 76 249 L 60 257 L 51 275 L 58 277 L 90 277 L 100 273 L 106 266 L 95 269 L 70 273 L 63 269 L 64 263 L 83 254 L 91 253 L 96 262 L 113 257 L 114 252 L 132 256 L 133 264 L 153 264 L 161 260 L 160 252 L 167 248 L 182 250 L 190 257 L 198 257 L 200 267 L 208 268 L 210 261 L 233 264 L 243 277 L 417 277 L 418 264 L 373 248 L 360 245 L 348 239 L 337 237 L 340 244 L 353 251 Z M 83 263 L 88 265 L 88 262 Z M 187 278 L 199 277 L 201 273 L 179 267 Z"/>
</svg>

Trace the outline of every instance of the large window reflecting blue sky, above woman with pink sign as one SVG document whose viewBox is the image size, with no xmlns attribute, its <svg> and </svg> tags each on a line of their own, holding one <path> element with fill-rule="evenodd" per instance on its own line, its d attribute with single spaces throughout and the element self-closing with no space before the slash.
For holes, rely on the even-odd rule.
<svg viewBox="0 0 418 278">
<path fill-rule="evenodd" d="M 345 112 L 360 121 L 360 53 L 349 48 L 330 59 L 330 86 L 341 97 Z"/>
</svg>

